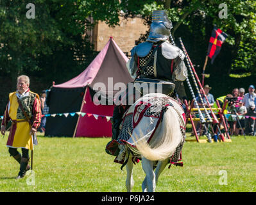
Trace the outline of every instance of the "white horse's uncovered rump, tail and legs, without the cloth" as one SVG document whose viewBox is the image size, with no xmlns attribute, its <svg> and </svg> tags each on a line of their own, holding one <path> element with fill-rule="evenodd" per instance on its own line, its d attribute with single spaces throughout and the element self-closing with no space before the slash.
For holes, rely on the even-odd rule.
<svg viewBox="0 0 256 205">
<path fill-rule="evenodd" d="M 158 124 L 158 127 L 153 136 L 151 136 L 149 143 L 147 140 L 148 138 L 145 137 L 148 133 L 142 132 L 148 124 L 139 123 L 137 125 L 137 130 L 140 130 L 139 134 L 138 132 L 136 133 L 133 131 L 130 139 L 133 143 L 126 143 L 125 145 L 126 149 L 130 149 L 133 154 L 135 153 L 141 156 L 142 168 L 146 174 L 142 183 L 142 192 L 155 192 L 158 177 L 166 167 L 167 163 L 169 163 L 170 157 L 175 152 L 176 147 L 178 147 L 183 140 L 183 134 L 180 127 L 185 127 L 185 120 L 183 119 L 184 112 L 180 104 L 164 94 L 148 94 L 142 98 L 154 96 L 169 98 L 173 106 L 167 107 L 162 121 Z M 141 99 L 139 99 L 139 101 L 140 100 Z M 135 113 L 133 113 L 133 115 L 134 114 Z M 126 163 L 127 192 L 132 192 L 134 185 L 132 157 L 132 154 L 127 154 L 126 152 L 125 161 L 128 160 Z M 154 171 L 155 166 L 157 167 Z"/>
</svg>

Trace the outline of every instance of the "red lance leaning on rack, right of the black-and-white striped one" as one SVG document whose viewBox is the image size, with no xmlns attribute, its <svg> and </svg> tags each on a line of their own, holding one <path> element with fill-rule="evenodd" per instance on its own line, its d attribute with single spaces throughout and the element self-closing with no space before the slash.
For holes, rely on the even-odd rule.
<svg viewBox="0 0 256 205">
<path fill-rule="evenodd" d="M 194 77 L 196 78 L 196 81 L 198 82 L 198 85 L 199 85 L 200 88 L 201 88 L 201 91 L 202 91 L 202 93 L 203 93 L 203 96 L 205 97 L 205 100 L 207 101 L 207 105 L 208 105 L 209 108 L 210 108 L 210 114 L 212 115 L 213 123 L 214 123 L 214 124 L 219 124 L 219 120 L 217 119 L 216 115 L 215 115 L 214 112 L 212 111 L 212 108 L 211 108 L 211 106 L 210 106 L 210 103 L 209 103 L 209 101 L 208 101 L 208 99 L 207 99 L 207 96 L 206 96 L 206 94 L 205 94 L 205 90 L 203 90 L 203 86 L 202 86 L 201 83 L 200 83 L 200 79 L 198 78 L 198 75 L 196 74 L 196 70 L 194 69 L 194 66 L 193 66 L 193 64 L 192 64 L 192 62 L 191 62 L 191 60 L 190 60 L 190 58 L 189 58 L 189 55 L 187 54 L 187 51 L 186 51 L 186 49 L 185 49 L 185 46 L 184 46 L 184 44 L 183 44 L 183 42 L 182 42 L 182 38 L 179 38 L 179 40 L 180 40 L 180 44 L 182 45 L 182 49 L 183 49 L 183 51 L 184 51 L 184 53 L 185 53 L 185 58 L 186 58 L 186 60 L 187 60 L 187 64 L 188 64 L 189 70 L 190 70 L 190 72 L 191 72 L 191 75 L 192 75 L 193 79 L 194 79 Z M 193 73 L 194 73 L 194 74 L 193 74 Z M 198 87 L 198 85 L 197 85 L 196 83 L 195 83 L 195 85 L 196 85 L 196 87 Z M 198 89 L 197 89 L 197 90 L 198 90 Z M 201 95 L 200 92 L 199 92 L 199 95 Z M 201 99 L 200 99 L 200 100 L 201 100 Z M 203 102 L 203 101 L 201 100 L 201 102 Z"/>
</svg>

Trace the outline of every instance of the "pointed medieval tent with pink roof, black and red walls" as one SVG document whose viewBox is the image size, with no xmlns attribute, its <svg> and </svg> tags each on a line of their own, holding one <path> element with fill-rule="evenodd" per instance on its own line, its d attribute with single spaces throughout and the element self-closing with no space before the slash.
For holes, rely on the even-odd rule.
<svg viewBox="0 0 256 205">
<path fill-rule="evenodd" d="M 109 99 L 118 92 L 113 91 L 115 83 L 126 85 L 133 81 L 126 69 L 127 61 L 128 58 L 110 37 L 98 56 L 80 75 L 65 83 L 53 85 L 47 99 L 51 115 L 47 117 L 45 135 L 112 136 L 109 116 L 112 116 L 114 103 Z M 94 86 L 99 85 L 105 85 L 98 89 L 102 99 L 108 99 L 105 105 L 93 101 L 97 93 Z"/>
</svg>

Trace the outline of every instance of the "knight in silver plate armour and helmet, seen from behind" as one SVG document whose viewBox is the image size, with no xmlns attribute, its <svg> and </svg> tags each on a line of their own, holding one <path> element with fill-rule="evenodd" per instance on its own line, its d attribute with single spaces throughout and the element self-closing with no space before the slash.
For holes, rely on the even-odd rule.
<svg viewBox="0 0 256 205">
<path fill-rule="evenodd" d="M 133 47 L 132 58 L 126 66 L 135 79 L 134 83 L 161 83 L 162 93 L 174 96 L 174 81 L 184 81 L 187 78 L 187 68 L 183 62 L 183 51 L 169 42 L 171 28 L 173 25 L 166 11 L 153 11 L 149 36 L 146 42 Z M 115 106 L 112 117 L 112 140 L 117 140 L 124 111 L 130 105 L 126 103 L 125 106 Z"/>
</svg>

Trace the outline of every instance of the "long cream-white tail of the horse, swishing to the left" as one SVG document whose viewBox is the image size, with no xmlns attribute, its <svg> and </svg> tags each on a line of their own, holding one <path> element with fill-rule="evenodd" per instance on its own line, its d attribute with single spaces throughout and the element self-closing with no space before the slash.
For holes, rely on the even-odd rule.
<svg viewBox="0 0 256 205">
<path fill-rule="evenodd" d="M 149 143 L 143 136 L 139 140 L 137 136 L 132 136 L 137 151 L 151 161 L 166 160 L 182 140 L 180 119 L 181 116 L 175 108 L 168 107 Z"/>
</svg>

